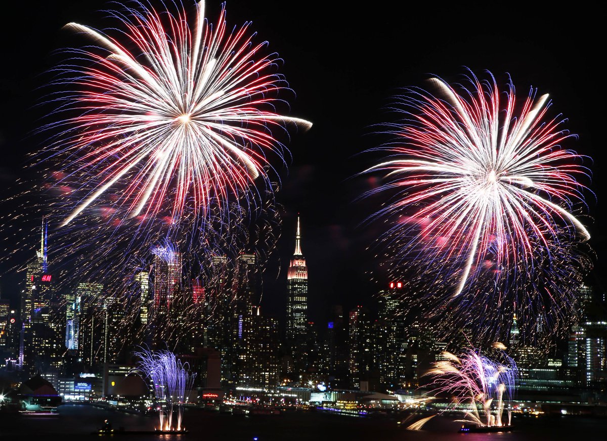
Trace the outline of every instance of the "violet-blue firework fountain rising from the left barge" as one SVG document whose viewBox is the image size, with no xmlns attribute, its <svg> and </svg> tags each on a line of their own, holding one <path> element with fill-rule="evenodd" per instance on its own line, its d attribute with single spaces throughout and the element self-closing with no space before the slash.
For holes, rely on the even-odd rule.
<svg viewBox="0 0 607 441">
<path fill-rule="evenodd" d="M 138 371 L 143 372 L 153 383 L 154 396 L 160 406 L 158 418 L 161 431 L 184 431 L 181 426 L 183 403 L 187 402 L 195 374 L 188 372 L 188 365 L 183 365 L 175 354 L 169 351 L 152 352 L 143 350 L 136 354 L 140 361 Z M 177 412 L 177 425 L 173 416 Z"/>
</svg>

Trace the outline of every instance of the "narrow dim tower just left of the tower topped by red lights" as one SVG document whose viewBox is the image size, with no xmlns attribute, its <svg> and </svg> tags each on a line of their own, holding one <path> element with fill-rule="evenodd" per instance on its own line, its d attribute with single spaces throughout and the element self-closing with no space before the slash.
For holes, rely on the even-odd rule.
<svg viewBox="0 0 607 441">
<path fill-rule="evenodd" d="M 352 309 L 348 325 L 350 380 L 354 388 L 359 388 L 371 368 L 371 320 L 368 309 L 360 305 Z"/>
</svg>

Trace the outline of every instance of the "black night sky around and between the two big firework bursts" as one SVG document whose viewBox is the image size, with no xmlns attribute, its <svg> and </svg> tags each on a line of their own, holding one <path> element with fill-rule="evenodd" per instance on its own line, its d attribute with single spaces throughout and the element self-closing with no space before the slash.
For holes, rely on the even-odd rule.
<svg viewBox="0 0 607 441">
<path fill-rule="evenodd" d="M 186 1 L 188 4 L 188 1 Z M 158 2 L 152 1 L 158 5 Z M 604 130 L 604 24 L 602 16 L 572 2 L 566 9 L 544 10 L 524 4 L 500 3 L 468 8 L 462 2 L 440 7 L 435 2 L 229 1 L 228 24 L 251 27 L 270 51 L 283 58 L 280 69 L 296 96 L 291 115 L 314 123 L 307 133 L 287 139 L 292 161 L 279 170 L 282 187 L 277 201 L 283 213 L 282 238 L 268 263 L 262 307 L 282 318 L 288 258 L 293 254 L 295 216 L 302 216 L 302 249 L 308 261 L 310 316 L 324 319 L 328 306 L 370 305 L 381 286 L 370 281 L 376 267 L 367 251 L 379 230 L 361 226 L 377 207 L 356 201 L 370 188 L 356 173 L 373 163 L 358 155 L 381 141 L 373 124 L 394 121 L 385 107 L 404 87 L 424 86 L 430 75 L 461 79 L 465 67 L 482 75 L 487 69 L 502 83 L 509 73 L 519 94 L 529 86 L 549 93 L 557 112 L 569 118 L 566 127 L 579 135 L 568 147 L 589 155 L 594 172 L 588 195 L 591 217 L 583 221 L 597 252 L 592 283 L 603 291 L 607 247 L 602 201 L 607 160 L 600 131 Z M 59 57 L 53 51 L 83 44 L 61 27 L 70 21 L 103 29 L 109 2 L 87 0 L 10 2 L 3 5 L 0 88 L 0 185 L 4 193 L 24 176 L 25 153 L 43 147 L 35 137 L 42 99 L 37 89 Z M 220 3 L 207 2 L 206 15 L 216 21 Z M 598 201 L 598 203 L 597 203 Z M 1 205 L 2 212 L 15 209 Z M 38 219 L 32 224 L 37 224 Z M 10 248 L 10 243 L 4 246 Z M 32 250 L 36 246 L 32 243 Z M 26 250 L 27 251 L 27 250 Z M 30 253 L 30 251 L 27 251 Z M 29 254 L 28 254 L 29 255 Z M 282 268 L 281 268 L 282 263 Z M 2 261 L 2 269 L 17 263 Z M 600 277 L 597 277 L 600 274 Z M 3 295 L 16 300 L 10 274 L 2 277 Z"/>
</svg>

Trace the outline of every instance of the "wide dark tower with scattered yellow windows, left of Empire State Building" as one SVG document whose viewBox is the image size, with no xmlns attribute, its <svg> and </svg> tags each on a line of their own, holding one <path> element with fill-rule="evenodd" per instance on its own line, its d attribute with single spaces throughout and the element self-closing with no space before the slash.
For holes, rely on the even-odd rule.
<svg viewBox="0 0 607 441">
<path fill-rule="evenodd" d="M 237 384 L 259 388 L 278 385 L 280 342 L 274 318 L 261 315 L 259 307 L 252 308 L 240 323 L 237 346 Z"/>
</svg>

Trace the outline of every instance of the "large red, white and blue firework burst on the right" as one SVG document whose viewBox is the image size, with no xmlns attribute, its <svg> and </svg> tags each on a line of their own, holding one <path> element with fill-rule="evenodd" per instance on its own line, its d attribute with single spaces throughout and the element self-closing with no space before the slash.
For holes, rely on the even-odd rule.
<svg viewBox="0 0 607 441">
<path fill-rule="evenodd" d="M 404 121 L 390 124 L 388 133 L 396 139 L 376 149 L 390 157 L 365 171 L 384 172 L 387 179 L 370 194 L 394 197 L 373 218 L 398 218 L 382 238 L 396 275 L 405 262 L 420 274 L 440 272 L 441 283 L 429 295 L 441 298 L 435 306 L 443 311 L 458 308 L 463 298 L 467 308 L 470 297 L 483 304 L 486 298 L 477 291 L 493 291 L 500 305 L 538 297 L 524 291 L 549 284 L 544 272 L 569 271 L 571 277 L 562 277 L 574 280 L 575 264 L 560 262 L 575 257 L 563 253 L 589 238 L 572 214 L 585 207 L 586 187 L 578 178 L 589 172 L 582 157 L 561 147 L 572 135 L 561 129 L 560 116 L 548 117 L 548 95 L 537 98 L 531 90 L 520 102 L 511 82 L 501 93 L 493 76 L 467 80 L 470 87 L 456 90 L 434 78 L 436 95 L 412 90 L 399 97 L 395 109 Z M 554 298 L 552 288 L 548 297 Z M 557 297 L 563 297 L 554 306 L 559 310 L 574 301 L 566 292 Z"/>
</svg>

